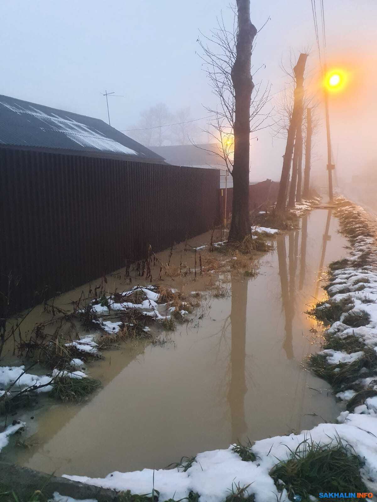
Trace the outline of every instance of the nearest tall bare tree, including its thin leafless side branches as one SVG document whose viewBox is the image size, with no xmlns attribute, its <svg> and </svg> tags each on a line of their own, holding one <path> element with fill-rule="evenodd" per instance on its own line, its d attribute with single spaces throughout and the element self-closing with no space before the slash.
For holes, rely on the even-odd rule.
<svg viewBox="0 0 377 502">
<path fill-rule="evenodd" d="M 229 240 L 242 240 L 250 232 L 249 224 L 249 158 L 250 132 L 262 128 L 269 113 L 262 108 L 269 101 L 270 86 L 258 84 L 254 91 L 251 55 L 257 30 L 250 21 L 250 0 L 237 0 L 233 9 L 233 28 L 224 19 L 209 37 L 199 40 L 200 55 L 213 93 L 219 100 L 208 133 L 220 145 L 217 155 L 225 162 L 233 177 L 233 208 Z M 251 95 L 253 94 L 253 99 Z"/>
</svg>

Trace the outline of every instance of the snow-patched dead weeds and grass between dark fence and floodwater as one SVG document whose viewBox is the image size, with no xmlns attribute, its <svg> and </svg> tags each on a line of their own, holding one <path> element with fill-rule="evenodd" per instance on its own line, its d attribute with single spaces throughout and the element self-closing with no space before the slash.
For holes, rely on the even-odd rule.
<svg viewBox="0 0 377 502">
<path fill-rule="evenodd" d="M 97 298 L 86 299 L 84 305 L 75 302 L 73 313 L 46 305 L 51 319 L 37 323 L 25 337 L 20 333 L 15 346 L 20 356 L 30 361 L 29 367 L 0 366 L 0 413 L 14 412 L 41 392 L 63 401 L 82 401 L 101 383 L 85 378 L 77 368 L 103 358 L 100 350 L 121 340 L 151 340 L 148 324 L 174 329 L 175 321 L 184 322 L 200 301 L 201 297 L 186 297 L 168 286 L 135 286 L 113 294 L 101 288 Z M 80 336 L 79 323 L 95 332 Z M 57 328 L 46 332 L 48 326 Z M 31 368 L 37 362 L 39 371 L 47 370 L 47 374 L 33 374 Z"/>
</svg>

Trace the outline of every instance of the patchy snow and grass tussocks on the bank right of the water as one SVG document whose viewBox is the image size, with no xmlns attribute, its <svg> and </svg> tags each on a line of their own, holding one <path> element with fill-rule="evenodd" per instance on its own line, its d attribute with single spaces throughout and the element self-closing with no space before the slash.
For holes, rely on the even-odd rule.
<svg viewBox="0 0 377 502">
<path fill-rule="evenodd" d="M 329 382 L 354 413 L 377 417 L 377 247 L 374 228 L 363 209 L 343 197 L 336 199 L 341 232 L 349 256 L 329 266 L 329 299 L 309 312 L 330 327 L 324 350 L 309 365 Z"/>
</svg>

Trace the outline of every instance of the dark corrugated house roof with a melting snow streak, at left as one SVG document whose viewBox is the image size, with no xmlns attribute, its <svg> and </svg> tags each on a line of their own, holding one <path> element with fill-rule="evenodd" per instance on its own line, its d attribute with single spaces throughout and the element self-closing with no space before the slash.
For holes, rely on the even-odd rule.
<svg viewBox="0 0 377 502">
<path fill-rule="evenodd" d="M 163 158 L 98 118 L 0 95 L 0 145 Z"/>
</svg>

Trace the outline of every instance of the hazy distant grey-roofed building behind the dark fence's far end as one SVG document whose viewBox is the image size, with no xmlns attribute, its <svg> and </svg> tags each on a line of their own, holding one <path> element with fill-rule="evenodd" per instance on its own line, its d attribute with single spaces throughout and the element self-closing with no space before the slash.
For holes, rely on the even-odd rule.
<svg viewBox="0 0 377 502">
<path fill-rule="evenodd" d="M 220 147 L 217 143 L 153 147 L 153 150 L 173 166 L 219 169 L 221 171 L 219 188 L 225 188 L 227 168 L 224 159 L 221 158 Z M 229 173 L 227 187 L 233 187 L 233 178 Z"/>
</svg>

